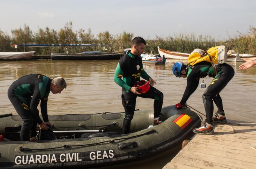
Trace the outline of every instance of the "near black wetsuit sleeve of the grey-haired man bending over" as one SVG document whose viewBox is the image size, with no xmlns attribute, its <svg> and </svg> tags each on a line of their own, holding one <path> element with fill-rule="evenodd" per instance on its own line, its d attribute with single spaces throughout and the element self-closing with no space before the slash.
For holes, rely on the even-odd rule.
<svg viewBox="0 0 256 169">
<path fill-rule="evenodd" d="M 37 121 L 37 124 L 41 124 L 43 121 L 41 120 L 39 116 L 39 111 L 37 109 L 37 106 L 40 102 L 40 90 L 39 90 L 39 85 L 36 84 L 34 88 L 34 94 L 32 96 L 32 100 L 30 103 L 30 112 L 34 115 L 35 120 Z"/>
</svg>

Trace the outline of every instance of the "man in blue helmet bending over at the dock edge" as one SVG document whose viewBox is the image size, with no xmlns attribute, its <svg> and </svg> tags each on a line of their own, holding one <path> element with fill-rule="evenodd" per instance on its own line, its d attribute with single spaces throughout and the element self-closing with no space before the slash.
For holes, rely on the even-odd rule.
<svg viewBox="0 0 256 169">
<path fill-rule="evenodd" d="M 176 77 L 187 77 L 187 87 L 180 103 L 175 105 L 176 109 L 186 106 L 186 101 L 197 89 L 200 78 L 204 78 L 207 75 L 214 78 L 203 94 L 206 120 L 203 122 L 201 127 L 193 130 L 193 132 L 196 134 L 213 134 L 213 122 L 223 124 L 227 122 L 219 92 L 221 92 L 227 83 L 229 83 L 235 72 L 232 66 L 228 65 L 227 63 L 223 63 L 218 66 L 218 71 L 216 72 L 213 72 L 212 64 L 206 61 L 197 63 L 194 66 L 189 65 L 188 67 L 181 62 L 176 62 L 172 66 L 172 72 Z M 203 83 L 203 87 L 205 88 L 204 85 L 205 84 Z M 212 117 L 213 101 L 218 108 L 215 117 Z"/>
</svg>

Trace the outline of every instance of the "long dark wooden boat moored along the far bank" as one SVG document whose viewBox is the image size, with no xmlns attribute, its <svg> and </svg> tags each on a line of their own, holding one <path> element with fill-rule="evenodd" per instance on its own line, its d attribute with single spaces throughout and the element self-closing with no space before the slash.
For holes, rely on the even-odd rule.
<svg viewBox="0 0 256 169">
<path fill-rule="evenodd" d="M 116 60 L 122 57 L 122 52 L 102 52 L 102 53 L 52 53 L 52 60 Z"/>
</svg>

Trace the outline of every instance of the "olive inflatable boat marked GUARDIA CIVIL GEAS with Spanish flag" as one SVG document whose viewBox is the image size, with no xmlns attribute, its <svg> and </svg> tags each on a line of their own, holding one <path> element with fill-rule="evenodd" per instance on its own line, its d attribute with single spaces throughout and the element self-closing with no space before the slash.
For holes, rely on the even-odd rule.
<svg viewBox="0 0 256 169">
<path fill-rule="evenodd" d="M 36 142 L 8 141 L 19 139 L 22 121 L 1 115 L 0 167 L 91 168 L 145 160 L 180 145 L 201 124 L 194 111 L 168 106 L 161 111 L 164 122 L 153 126 L 153 113 L 135 111 L 130 134 L 120 134 L 124 113 L 49 115 L 58 139 Z"/>
</svg>

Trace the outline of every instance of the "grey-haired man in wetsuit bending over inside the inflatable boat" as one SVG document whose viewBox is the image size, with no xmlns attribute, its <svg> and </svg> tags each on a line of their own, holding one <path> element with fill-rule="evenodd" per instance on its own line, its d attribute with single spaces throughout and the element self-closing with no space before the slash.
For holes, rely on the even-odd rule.
<svg viewBox="0 0 256 169">
<path fill-rule="evenodd" d="M 52 126 L 47 115 L 48 95 L 50 91 L 53 94 L 61 93 L 66 87 L 67 84 L 64 78 L 51 79 L 41 74 L 26 75 L 11 84 L 8 89 L 8 98 L 23 120 L 20 131 L 21 141 L 35 139 L 37 124 L 39 124 L 41 130 L 48 130 L 47 125 Z M 40 100 L 44 122 L 41 120 L 37 109 Z"/>
</svg>

